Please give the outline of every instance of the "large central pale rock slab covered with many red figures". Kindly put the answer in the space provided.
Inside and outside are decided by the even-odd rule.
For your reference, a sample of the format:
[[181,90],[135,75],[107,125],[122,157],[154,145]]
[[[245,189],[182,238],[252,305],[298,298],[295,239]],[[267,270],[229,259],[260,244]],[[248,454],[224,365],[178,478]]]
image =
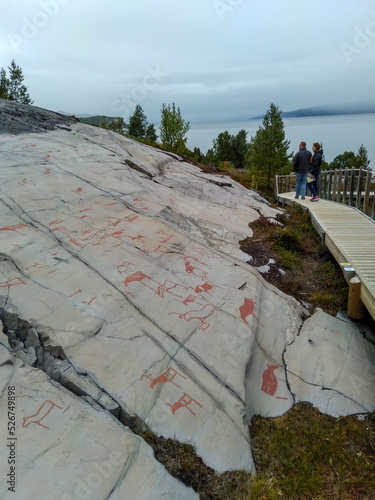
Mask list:
[[[218,472],[254,471],[252,415],[281,415],[303,391],[316,399],[319,378],[312,351],[298,364],[315,320],[303,325],[303,307],[239,249],[250,222],[279,211],[227,176],[87,125],[1,136],[0,146],[0,307],[20,356],[34,361],[35,347],[37,366],[97,418],[104,407],[135,431],[192,444]],[[363,387],[348,398],[371,408]],[[40,406],[53,401],[33,388]]]

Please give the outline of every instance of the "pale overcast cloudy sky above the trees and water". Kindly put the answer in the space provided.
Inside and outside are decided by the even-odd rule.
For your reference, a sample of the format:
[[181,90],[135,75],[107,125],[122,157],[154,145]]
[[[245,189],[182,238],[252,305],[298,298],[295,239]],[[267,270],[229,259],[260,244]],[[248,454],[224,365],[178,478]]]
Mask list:
[[34,105],[190,123],[375,102],[374,0],[0,0]]

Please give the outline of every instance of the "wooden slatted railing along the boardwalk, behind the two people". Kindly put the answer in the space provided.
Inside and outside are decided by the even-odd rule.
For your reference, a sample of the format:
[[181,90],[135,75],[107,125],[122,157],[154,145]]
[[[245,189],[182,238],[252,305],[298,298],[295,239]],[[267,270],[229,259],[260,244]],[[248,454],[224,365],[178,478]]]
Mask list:
[[[319,198],[356,207],[375,220],[374,191],[371,191],[371,170],[343,168],[323,170],[319,175]],[[295,174],[275,176],[275,198],[295,189]],[[308,192],[307,188],[307,192]]]

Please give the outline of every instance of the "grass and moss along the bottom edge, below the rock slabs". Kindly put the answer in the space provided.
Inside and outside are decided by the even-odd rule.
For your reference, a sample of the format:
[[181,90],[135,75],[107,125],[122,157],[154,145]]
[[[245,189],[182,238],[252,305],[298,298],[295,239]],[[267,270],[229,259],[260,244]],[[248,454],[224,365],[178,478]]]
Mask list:
[[[194,449],[146,431],[155,456],[202,500],[375,498],[375,414],[334,418],[308,403],[250,425],[257,474],[216,474]],[[220,439],[220,436],[218,436]]]

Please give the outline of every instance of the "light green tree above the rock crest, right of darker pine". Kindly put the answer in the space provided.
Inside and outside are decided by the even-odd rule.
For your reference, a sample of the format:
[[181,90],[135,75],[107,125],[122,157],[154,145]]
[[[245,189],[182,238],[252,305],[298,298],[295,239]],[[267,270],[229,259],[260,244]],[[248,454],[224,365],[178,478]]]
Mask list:
[[163,104],[161,109],[160,139],[163,146],[173,153],[183,153],[186,150],[186,140],[184,137],[190,128],[181,116],[181,110],[176,109],[175,103],[168,106]]

